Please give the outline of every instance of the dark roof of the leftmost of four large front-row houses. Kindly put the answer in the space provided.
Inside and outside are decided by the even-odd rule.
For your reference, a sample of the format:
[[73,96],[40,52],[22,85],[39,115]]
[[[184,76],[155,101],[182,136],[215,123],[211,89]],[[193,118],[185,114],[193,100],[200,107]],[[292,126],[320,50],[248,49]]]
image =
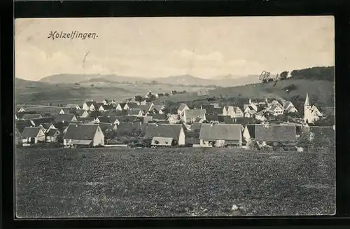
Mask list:
[[96,124],[70,124],[64,139],[92,140],[98,127]]

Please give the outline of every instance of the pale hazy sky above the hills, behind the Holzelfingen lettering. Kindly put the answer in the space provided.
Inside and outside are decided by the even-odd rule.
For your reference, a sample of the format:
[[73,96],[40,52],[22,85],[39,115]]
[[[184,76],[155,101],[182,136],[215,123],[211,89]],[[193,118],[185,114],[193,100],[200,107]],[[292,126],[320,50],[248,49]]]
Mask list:
[[[48,39],[55,31],[98,37]],[[278,73],[334,65],[334,34],[334,19],[324,16],[17,19],[15,76]]]

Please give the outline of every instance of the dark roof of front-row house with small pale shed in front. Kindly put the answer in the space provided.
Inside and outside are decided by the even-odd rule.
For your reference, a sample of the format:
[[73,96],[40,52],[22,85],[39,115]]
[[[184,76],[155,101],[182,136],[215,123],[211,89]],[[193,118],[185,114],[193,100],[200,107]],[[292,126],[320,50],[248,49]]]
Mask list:
[[181,124],[148,124],[145,138],[152,139],[153,137],[171,137],[175,140],[179,140],[181,129]]

